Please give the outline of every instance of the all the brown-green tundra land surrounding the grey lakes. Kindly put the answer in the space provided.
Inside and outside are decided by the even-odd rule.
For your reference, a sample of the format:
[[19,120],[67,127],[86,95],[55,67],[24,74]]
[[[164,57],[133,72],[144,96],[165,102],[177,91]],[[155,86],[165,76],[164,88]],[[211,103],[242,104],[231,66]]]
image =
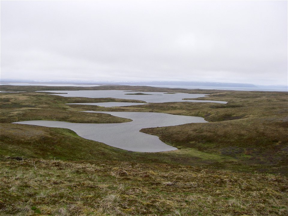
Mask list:
[[[199,100],[129,107],[68,105],[143,102],[76,98],[41,90],[128,90],[207,94]],[[2,215],[288,215],[287,92],[147,86],[11,86],[0,93]],[[194,99],[194,98],[193,98]],[[210,123],[143,128],[179,150],[129,152],[63,128],[26,120],[127,122],[103,113],[161,112]]]

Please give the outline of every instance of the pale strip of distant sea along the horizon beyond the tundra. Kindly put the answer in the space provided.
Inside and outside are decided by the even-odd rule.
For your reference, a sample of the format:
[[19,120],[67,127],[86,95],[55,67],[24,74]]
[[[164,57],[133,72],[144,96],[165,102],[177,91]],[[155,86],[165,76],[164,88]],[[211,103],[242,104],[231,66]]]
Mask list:
[[[0,85],[41,85],[41,86],[76,86],[76,87],[93,87],[100,85],[93,84],[77,84],[77,83],[23,83],[23,82],[2,82]],[[112,83],[107,83],[105,85],[113,85]],[[128,85],[128,84],[125,84]],[[137,86],[137,85],[131,85]],[[274,87],[274,86],[259,86],[258,88],[247,88],[247,87],[220,87],[220,86],[190,86],[190,85],[140,85],[140,86],[152,86],[159,88],[187,88],[187,89],[217,89],[217,90],[234,90],[234,91],[288,91],[286,87]]]

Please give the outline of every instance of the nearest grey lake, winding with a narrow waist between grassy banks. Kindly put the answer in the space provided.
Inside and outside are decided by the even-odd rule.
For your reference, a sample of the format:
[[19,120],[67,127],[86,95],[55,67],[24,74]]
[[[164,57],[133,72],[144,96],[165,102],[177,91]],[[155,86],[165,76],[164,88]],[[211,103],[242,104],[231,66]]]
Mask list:
[[84,111],[89,113],[108,113],[113,116],[132,119],[132,122],[110,124],[86,124],[60,121],[23,121],[17,124],[39,125],[46,127],[68,128],[75,131],[80,137],[95,140],[109,146],[134,152],[164,152],[177,148],[163,143],[157,136],[145,134],[142,128],[182,125],[187,123],[205,123],[202,117],[179,116],[166,113],[144,112],[102,112]]

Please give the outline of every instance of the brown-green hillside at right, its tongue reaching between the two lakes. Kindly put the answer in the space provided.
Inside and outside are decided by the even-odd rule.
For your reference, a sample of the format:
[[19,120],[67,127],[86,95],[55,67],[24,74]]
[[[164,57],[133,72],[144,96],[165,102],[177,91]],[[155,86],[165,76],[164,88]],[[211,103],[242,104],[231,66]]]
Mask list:
[[[200,152],[230,156],[240,164],[250,167],[248,170],[287,174],[287,92],[223,91],[199,99],[229,102],[173,102],[117,108],[83,105],[70,107],[79,110],[201,116],[210,123],[146,128],[141,132],[157,135],[163,142],[182,150],[196,149]],[[239,169],[245,170],[247,167]]]

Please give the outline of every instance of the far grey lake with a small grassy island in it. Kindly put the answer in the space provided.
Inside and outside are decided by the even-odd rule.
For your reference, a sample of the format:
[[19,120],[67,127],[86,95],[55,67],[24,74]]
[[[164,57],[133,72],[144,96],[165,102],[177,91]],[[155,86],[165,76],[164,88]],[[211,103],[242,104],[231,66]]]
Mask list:
[[[63,93],[63,94],[51,94],[51,95],[60,95],[63,97],[118,98],[118,99],[141,100],[146,101],[147,103],[165,103],[165,102],[213,102],[221,104],[227,103],[227,101],[182,100],[183,98],[205,97],[205,94],[188,94],[188,93],[167,94],[167,92],[137,91],[138,93],[151,94],[151,95],[126,95],[131,94],[131,92],[122,90],[79,90],[79,91],[44,91],[44,92]],[[136,92],[133,91],[133,93]]]

